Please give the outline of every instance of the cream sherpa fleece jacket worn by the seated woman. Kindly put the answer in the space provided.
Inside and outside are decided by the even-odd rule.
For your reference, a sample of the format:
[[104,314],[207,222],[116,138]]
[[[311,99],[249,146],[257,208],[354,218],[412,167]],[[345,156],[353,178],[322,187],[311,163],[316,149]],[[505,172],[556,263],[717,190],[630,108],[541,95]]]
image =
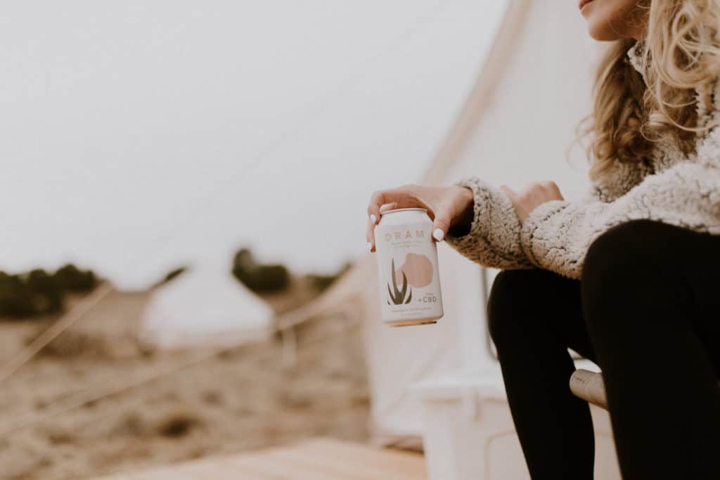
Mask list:
[[[641,48],[636,43],[628,56],[642,73]],[[719,97],[697,92],[698,124],[720,119]],[[672,142],[656,142],[647,161],[618,163],[607,180],[593,182],[581,199],[548,201],[522,224],[500,189],[474,176],[454,185],[472,189],[474,219],[469,230],[447,233],[452,248],[483,266],[538,267],[580,279],[593,240],[630,220],[652,219],[720,235],[720,127],[698,135],[692,155]]]

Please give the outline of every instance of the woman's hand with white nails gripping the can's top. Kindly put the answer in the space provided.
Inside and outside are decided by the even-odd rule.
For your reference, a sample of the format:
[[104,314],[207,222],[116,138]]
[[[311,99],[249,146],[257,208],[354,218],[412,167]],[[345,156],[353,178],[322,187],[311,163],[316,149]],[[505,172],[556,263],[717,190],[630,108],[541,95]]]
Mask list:
[[367,249],[375,250],[375,225],[380,212],[420,207],[433,219],[433,238],[441,242],[450,227],[469,225],[473,218],[472,190],[464,186],[403,185],[397,189],[379,190],[370,197],[367,207]]

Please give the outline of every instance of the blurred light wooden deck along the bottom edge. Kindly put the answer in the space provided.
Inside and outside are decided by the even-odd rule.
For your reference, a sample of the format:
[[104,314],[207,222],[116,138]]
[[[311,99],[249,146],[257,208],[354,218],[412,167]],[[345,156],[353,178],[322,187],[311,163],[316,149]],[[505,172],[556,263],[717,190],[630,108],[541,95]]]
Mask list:
[[341,440],[312,439],[283,448],[203,458],[97,480],[425,480],[417,453]]

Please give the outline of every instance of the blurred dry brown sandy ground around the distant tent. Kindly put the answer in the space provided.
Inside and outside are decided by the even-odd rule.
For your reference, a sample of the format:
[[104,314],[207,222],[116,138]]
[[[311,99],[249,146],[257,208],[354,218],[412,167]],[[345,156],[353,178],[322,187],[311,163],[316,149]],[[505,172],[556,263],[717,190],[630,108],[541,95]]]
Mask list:
[[[312,297],[305,284],[269,297],[279,311]],[[344,318],[297,328],[297,356],[279,338],[57,415],[74,394],[174,369],[208,350],[163,352],[135,338],[148,293],[115,292],[0,384],[0,478],[85,479],[313,435],[368,438],[361,332]],[[0,321],[0,361],[53,322]],[[17,427],[18,422],[26,423]]]

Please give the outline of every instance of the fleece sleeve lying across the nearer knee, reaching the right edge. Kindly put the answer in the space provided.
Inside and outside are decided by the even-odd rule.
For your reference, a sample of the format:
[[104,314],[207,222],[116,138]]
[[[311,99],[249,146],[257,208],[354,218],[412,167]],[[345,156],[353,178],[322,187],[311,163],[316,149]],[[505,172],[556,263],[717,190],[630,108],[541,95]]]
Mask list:
[[[714,137],[720,132],[714,132]],[[720,146],[716,138],[698,155],[649,175],[614,201],[549,201],[523,222],[521,245],[540,268],[580,279],[585,254],[609,228],[650,219],[720,234]]]

